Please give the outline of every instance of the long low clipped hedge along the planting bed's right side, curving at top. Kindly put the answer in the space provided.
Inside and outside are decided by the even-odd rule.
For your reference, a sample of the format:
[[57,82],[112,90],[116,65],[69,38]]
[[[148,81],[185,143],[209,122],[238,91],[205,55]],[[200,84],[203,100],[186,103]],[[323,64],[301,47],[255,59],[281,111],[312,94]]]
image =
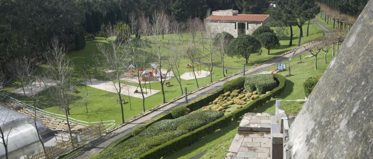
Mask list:
[[[159,158],[162,158],[163,156],[170,155],[173,152],[184,148],[185,146],[191,145],[192,143],[200,140],[201,138],[207,136],[208,134],[215,132],[215,130],[227,126],[229,123],[231,123],[232,120],[241,119],[241,117],[245,113],[248,113],[254,108],[261,106],[262,104],[269,101],[271,97],[278,95],[283,91],[283,89],[285,88],[286,78],[278,74],[274,74],[273,76],[275,77],[275,80],[278,83],[278,87],[273,89],[270,93],[265,94],[262,97],[257,98],[256,100],[251,101],[250,103],[246,104],[243,108],[233,111],[231,114],[223,116],[222,118],[217,119],[209,124],[206,124],[205,126],[202,126],[192,132],[186,133],[162,145],[159,145],[155,147],[154,149],[151,149],[143,153],[138,158],[139,159],[159,159]],[[229,83],[229,87],[234,88],[236,86],[233,86],[232,83]],[[243,82],[242,82],[241,88],[242,87],[243,87]],[[201,106],[204,106],[204,105],[200,105],[200,107]]]

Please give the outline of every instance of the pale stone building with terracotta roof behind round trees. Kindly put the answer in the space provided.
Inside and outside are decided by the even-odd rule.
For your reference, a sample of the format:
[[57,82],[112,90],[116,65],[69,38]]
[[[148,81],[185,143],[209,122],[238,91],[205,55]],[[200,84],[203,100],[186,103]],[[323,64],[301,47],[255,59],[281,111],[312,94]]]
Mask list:
[[238,10],[216,10],[205,19],[214,34],[228,32],[235,38],[240,34],[252,34],[262,25],[269,25],[268,14],[238,14]]

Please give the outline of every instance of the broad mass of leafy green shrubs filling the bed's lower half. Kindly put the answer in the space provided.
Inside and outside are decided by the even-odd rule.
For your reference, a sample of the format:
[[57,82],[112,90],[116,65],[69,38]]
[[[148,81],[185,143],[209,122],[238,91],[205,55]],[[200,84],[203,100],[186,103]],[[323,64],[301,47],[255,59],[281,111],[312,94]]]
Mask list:
[[158,121],[131,139],[113,147],[95,158],[126,158],[140,156],[158,145],[198,129],[224,116],[221,111],[199,111],[176,119]]

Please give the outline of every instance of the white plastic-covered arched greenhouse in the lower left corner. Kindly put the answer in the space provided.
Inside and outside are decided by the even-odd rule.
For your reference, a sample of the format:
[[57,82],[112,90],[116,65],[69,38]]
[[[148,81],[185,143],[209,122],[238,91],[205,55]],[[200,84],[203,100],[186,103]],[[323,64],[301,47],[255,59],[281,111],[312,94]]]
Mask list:
[[[36,123],[39,133],[47,130],[41,121]],[[34,119],[0,105],[0,127],[7,141],[9,158],[29,158],[43,151],[35,129]],[[0,158],[5,158],[5,147],[0,141]]]

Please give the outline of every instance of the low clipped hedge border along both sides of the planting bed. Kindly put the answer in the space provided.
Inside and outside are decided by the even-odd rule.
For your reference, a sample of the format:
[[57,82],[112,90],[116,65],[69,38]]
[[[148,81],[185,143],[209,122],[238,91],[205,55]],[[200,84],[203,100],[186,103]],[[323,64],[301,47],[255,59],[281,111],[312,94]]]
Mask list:
[[[182,136],[176,137],[175,139],[170,140],[166,143],[163,143],[162,145],[154,147],[153,149],[150,149],[147,152],[141,154],[138,158],[159,159],[162,156],[170,155],[173,152],[178,151],[184,148],[185,146],[191,145],[192,143],[200,140],[201,138],[215,132],[217,129],[227,126],[228,124],[231,123],[232,120],[241,119],[241,117],[245,113],[248,113],[254,108],[261,106],[262,104],[269,101],[271,97],[276,96],[283,91],[283,89],[285,88],[286,78],[278,74],[273,74],[273,76],[275,77],[278,87],[273,89],[270,93],[265,94],[262,97],[256,100],[253,100],[248,104],[245,104],[244,107],[240,108],[239,110],[233,111],[230,114],[221,117],[220,119],[217,119],[209,124],[206,124],[205,126],[202,126],[192,132],[183,134]],[[227,90],[233,91],[233,90],[241,89],[244,85],[244,81],[245,81],[245,77],[238,77],[234,80],[228,81],[223,85],[223,88],[220,88],[219,90],[216,90],[213,93],[210,93],[191,103],[184,104],[184,106],[189,108],[190,110],[197,110],[198,108],[202,106],[208,105],[211,101],[215,100],[217,97],[219,97],[220,94],[223,94]],[[145,123],[144,125],[146,127],[149,127],[152,124],[156,123],[157,121],[161,121],[165,119],[173,119],[171,111],[168,111],[158,116],[157,118]],[[185,127],[189,128],[191,126],[185,126]],[[101,153],[107,152],[107,150],[112,149],[113,147],[119,145],[122,142],[125,142],[128,139],[131,139],[132,137],[133,136],[131,133],[126,134],[125,136],[121,137],[120,139],[116,140],[115,142],[107,146],[106,149],[102,151]]]

